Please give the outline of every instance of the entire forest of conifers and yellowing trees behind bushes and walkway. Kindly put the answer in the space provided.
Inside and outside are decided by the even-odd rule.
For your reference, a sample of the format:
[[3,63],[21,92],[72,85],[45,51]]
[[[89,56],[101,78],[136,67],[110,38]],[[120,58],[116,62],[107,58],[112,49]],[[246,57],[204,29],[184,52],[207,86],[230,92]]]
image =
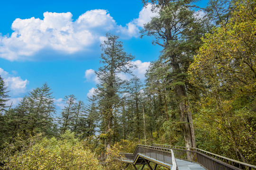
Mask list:
[[[109,33],[96,71],[100,83],[87,106],[66,96],[55,118],[45,84],[17,107],[6,108],[1,80],[1,149],[17,136],[59,137],[68,130],[88,140],[98,131],[90,141],[101,156],[118,142],[127,147],[158,143],[256,164],[256,1],[210,0],[200,12],[193,11],[198,8],[193,0],[151,3],[159,15],[141,36],[154,37],[163,50],[151,62],[145,83],[132,75],[134,56]],[[132,78],[123,80],[122,74]]]

